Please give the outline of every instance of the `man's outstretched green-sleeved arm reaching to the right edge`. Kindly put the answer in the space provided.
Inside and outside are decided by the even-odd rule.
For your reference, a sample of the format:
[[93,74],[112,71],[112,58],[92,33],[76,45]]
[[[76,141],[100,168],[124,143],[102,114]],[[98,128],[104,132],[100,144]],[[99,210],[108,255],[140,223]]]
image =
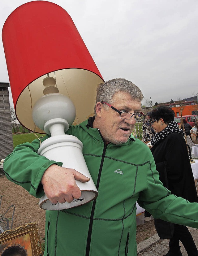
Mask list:
[[182,197],[176,197],[162,185],[152,155],[150,168],[145,175],[148,186],[140,192],[138,204],[156,219],[198,228],[198,203],[190,203]]

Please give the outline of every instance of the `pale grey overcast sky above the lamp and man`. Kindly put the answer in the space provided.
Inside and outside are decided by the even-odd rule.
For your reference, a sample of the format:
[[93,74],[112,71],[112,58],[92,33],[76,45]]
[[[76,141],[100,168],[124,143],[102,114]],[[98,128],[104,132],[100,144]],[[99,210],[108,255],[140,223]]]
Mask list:
[[[1,30],[11,12],[26,2],[1,2]],[[197,0],[50,2],[70,14],[104,80],[126,78],[153,104],[198,93]],[[9,82],[2,40],[0,65],[0,82]]]

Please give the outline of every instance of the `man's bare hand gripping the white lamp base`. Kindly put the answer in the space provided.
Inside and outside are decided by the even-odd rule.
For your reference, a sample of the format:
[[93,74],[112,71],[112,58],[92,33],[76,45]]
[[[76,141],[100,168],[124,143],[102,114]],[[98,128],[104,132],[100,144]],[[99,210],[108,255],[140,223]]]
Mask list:
[[74,169],[53,164],[44,172],[41,184],[45,195],[52,203],[71,203],[74,198],[78,199],[81,196],[75,180],[88,182],[90,179]]

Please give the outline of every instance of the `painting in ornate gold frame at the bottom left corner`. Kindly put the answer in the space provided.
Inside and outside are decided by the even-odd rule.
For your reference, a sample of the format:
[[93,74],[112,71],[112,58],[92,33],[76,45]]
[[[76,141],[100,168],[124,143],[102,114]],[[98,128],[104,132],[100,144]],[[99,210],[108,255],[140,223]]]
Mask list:
[[0,234],[0,255],[9,255],[14,251],[21,252],[19,255],[43,255],[36,222]]

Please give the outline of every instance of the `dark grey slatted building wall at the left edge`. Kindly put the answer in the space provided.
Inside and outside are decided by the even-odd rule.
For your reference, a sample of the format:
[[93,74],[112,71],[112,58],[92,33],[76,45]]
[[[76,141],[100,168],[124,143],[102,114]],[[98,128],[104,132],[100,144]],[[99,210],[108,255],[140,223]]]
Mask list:
[[0,160],[13,151],[9,83],[0,83]]

